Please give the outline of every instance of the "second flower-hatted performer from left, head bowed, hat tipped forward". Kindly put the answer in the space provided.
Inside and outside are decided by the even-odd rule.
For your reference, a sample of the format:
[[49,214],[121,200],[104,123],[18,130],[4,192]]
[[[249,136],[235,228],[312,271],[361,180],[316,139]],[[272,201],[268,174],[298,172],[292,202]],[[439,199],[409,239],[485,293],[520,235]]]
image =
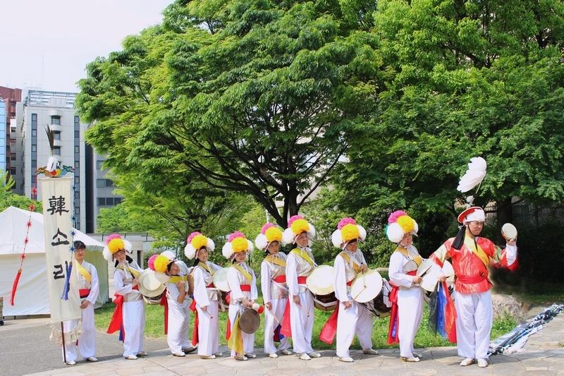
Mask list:
[[[185,272],[183,272],[184,270]],[[154,271],[166,274],[166,342],[173,356],[185,356],[185,352],[194,351],[188,341],[188,267],[183,261],[176,260],[176,255],[170,250],[161,253],[154,260]]]

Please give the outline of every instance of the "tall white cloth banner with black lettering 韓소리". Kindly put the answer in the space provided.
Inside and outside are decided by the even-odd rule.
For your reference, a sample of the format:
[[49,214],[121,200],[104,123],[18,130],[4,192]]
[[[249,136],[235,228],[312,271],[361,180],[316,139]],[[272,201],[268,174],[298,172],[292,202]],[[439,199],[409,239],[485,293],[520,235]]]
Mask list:
[[[45,231],[45,262],[47,262],[47,281],[51,322],[80,319],[80,295],[73,245],[72,177],[40,178],[43,202],[43,226]],[[72,265],[72,267],[71,267]],[[67,272],[70,273],[68,300],[63,299]]]

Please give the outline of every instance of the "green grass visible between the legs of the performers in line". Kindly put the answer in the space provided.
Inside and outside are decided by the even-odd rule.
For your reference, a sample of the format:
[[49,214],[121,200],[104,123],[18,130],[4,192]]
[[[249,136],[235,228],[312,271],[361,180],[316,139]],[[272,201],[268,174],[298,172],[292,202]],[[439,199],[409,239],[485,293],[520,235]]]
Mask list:
[[[321,327],[323,327],[326,320],[329,319],[331,313],[321,312],[320,310],[314,310],[315,320],[313,329],[313,339],[312,346],[316,349],[331,349],[335,348],[335,345],[328,345],[324,342],[319,341],[319,332],[321,332]],[[111,320],[111,315],[114,313],[114,303],[108,303],[95,311],[95,321],[96,327],[101,330],[106,330],[109,322]],[[145,324],[145,335],[152,338],[164,338],[164,310],[160,305],[146,305],[146,324]],[[192,335],[192,325],[193,325],[194,315],[190,314],[190,336]],[[440,335],[435,335],[432,333],[428,327],[427,322],[429,320],[429,309],[427,304],[424,305],[423,320],[417,336],[415,337],[415,347],[437,347],[437,346],[454,346],[450,344],[446,339],[443,339]],[[261,317],[261,326],[259,330],[255,333],[255,346],[262,347],[264,344],[264,317]],[[221,344],[226,345],[225,331],[226,331],[227,313],[219,313],[219,340]],[[397,348],[398,345],[389,346],[387,344],[388,339],[388,318],[381,320],[374,319],[374,327],[372,329],[372,342],[374,348]],[[495,339],[509,332],[516,323],[512,317],[506,316],[494,321],[494,326],[491,330],[491,339]],[[117,334],[115,334],[117,335]],[[358,340],[355,339],[351,348],[359,349],[360,344]]]

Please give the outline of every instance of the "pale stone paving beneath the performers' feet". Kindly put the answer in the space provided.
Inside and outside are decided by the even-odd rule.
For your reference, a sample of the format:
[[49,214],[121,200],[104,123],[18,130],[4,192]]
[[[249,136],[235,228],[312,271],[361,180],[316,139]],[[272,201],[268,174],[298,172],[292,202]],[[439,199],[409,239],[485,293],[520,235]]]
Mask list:
[[[78,363],[73,367],[35,375],[564,375],[564,314],[558,315],[537,334],[529,337],[525,351],[491,357],[488,368],[460,367],[454,347],[426,348],[420,363],[399,360],[398,349],[381,350],[379,356],[351,351],[355,363],[338,361],[334,351],[322,351],[321,358],[309,361],[296,356],[271,359],[258,357],[245,362],[228,357],[202,360],[195,354],[176,358],[168,349],[149,353],[146,358],[115,358],[98,363]],[[226,352],[226,348],[223,348]]]

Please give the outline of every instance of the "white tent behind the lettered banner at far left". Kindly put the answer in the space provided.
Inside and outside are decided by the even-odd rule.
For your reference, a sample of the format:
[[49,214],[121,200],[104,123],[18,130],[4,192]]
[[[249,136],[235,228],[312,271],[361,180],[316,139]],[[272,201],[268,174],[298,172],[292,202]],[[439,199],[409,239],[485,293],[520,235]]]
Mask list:
[[[13,280],[20,267],[20,255],[31,219],[22,275],[18,284],[14,305],[10,305]],[[102,256],[104,245],[75,230],[74,240],[86,245],[85,260],[94,265],[100,281],[97,306],[108,301],[108,263]],[[0,296],[4,297],[4,316],[48,315],[49,291],[47,289],[47,267],[45,265],[45,242],[43,214],[28,212],[17,207],[8,207],[0,213]]]

